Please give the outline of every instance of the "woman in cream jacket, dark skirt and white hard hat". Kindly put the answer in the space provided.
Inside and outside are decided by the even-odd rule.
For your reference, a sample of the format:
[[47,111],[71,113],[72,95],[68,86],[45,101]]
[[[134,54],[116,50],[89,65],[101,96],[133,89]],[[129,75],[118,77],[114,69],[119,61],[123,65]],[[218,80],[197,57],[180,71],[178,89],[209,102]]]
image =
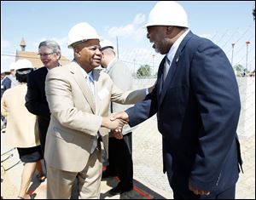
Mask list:
[[43,181],[40,160],[43,158],[38,136],[36,116],[27,111],[25,106],[26,76],[33,71],[29,60],[18,60],[16,79],[20,83],[14,88],[7,89],[1,100],[1,111],[7,118],[6,137],[9,145],[17,148],[21,162],[25,163],[21,174],[20,192],[18,198],[33,198],[27,194],[35,169],[38,169],[38,180]]

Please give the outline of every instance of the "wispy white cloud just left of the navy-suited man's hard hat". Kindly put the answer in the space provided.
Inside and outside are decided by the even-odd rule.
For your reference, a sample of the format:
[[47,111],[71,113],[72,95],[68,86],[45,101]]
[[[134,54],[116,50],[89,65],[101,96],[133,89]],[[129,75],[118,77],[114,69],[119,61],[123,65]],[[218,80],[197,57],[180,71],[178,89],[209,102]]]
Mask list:
[[126,37],[139,42],[146,35],[146,30],[142,28],[144,21],[145,14],[137,14],[131,24],[108,28],[108,34],[111,37]]

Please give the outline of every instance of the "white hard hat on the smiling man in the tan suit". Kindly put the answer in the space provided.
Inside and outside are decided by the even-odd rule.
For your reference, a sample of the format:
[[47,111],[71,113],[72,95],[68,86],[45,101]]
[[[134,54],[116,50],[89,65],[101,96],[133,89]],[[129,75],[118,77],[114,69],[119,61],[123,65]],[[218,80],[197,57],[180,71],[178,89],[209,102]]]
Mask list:
[[72,48],[73,43],[84,42],[89,39],[99,39],[98,33],[88,23],[79,23],[68,32],[68,48]]

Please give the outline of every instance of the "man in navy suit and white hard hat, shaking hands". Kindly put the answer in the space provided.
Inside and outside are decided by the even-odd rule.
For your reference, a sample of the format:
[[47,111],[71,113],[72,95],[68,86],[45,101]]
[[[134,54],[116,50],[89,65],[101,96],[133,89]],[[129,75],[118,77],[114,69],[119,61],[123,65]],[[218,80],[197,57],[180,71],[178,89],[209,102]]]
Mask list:
[[174,198],[235,198],[241,103],[228,58],[216,44],[189,31],[178,3],[156,3],[146,26],[155,51],[166,54],[156,86],[115,118],[135,126],[157,113],[163,167]]

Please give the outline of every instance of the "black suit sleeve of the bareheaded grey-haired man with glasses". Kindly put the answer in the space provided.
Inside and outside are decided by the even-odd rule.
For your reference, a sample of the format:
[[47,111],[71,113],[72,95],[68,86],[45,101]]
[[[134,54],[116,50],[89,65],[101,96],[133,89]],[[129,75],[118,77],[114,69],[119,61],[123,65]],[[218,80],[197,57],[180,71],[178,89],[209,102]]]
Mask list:
[[48,103],[46,100],[42,100],[42,94],[40,94],[40,89],[37,86],[38,80],[35,78],[30,75],[27,76],[26,109],[34,115],[49,117]]

